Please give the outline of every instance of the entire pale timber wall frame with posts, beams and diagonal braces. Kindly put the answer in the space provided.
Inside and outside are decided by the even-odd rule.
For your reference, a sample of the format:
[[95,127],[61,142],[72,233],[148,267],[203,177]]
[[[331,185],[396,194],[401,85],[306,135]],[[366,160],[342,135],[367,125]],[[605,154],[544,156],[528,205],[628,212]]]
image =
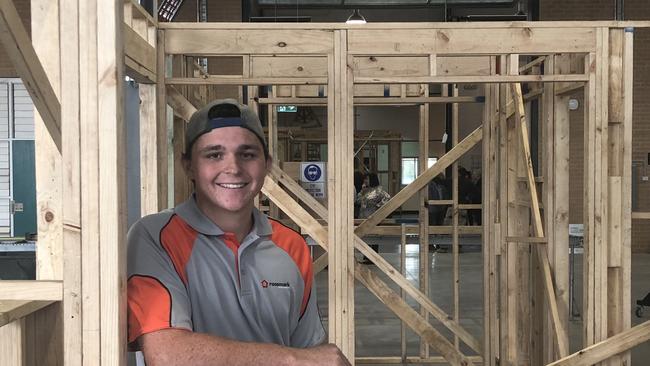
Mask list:
[[[167,183],[164,143],[167,104],[185,119],[197,107],[173,86],[326,88],[328,206],[337,209],[328,211],[277,166],[267,177],[263,191],[328,250],[324,258],[329,262],[330,341],[351,359],[355,354],[355,279],[441,356],[426,358],[423,347],[424,361],[514,365],[546,364],[566,357],[554,364],[589,365],[650,338],[648,323],[630,329],[629,315],[632,41],[633,27],[649,24],[163,25],[128,1],[32,0],[32,22],[38,27],[33,27],[30,43],[16,21],[18,17],[12,18],[15,8],[11,1],[0,0],[0,10],[2,42],[11,50],[16,69],[42,116],[37,118],[38,280],[0,282],[0,350],[6,351],[0,353],[3,365],[126,363],[125,73],[141,83],[143,215],[167,207],[168,190],[172,189]],[[561,54],[581,57],[582,71],[563,68],[566,65]],[[185,70],[181,72],[185,75],[167,77],[163,70],[170,55],[242,56],[244,72],[241,76],[194,77]],[[521,68],[520,55],[543,56],[533,62],[543,63],[544,73],[520,75],[520,69],[527,70]],[[390,75],[379,72],[381,69],[361,75],[355,58],[369,56],[420,57],[428,68],[424,75]],[[489,74],[465,75],[462,70],[453,76],[437,73],[437,64],[458,56],[487,57]],[[317,65],[288,68],[279,74],[273,73],[279,69],[271,67],[267,69],[271,73],[257,73],[256,60],[272,63],[285,57],[310,58]],[[305,70],[309,70],[308,75]],[[483,124],[467,136],[455,136],[454,147],[437,164],[423,170],[412,184],[355,227],[353,163],[349,158],[353,154],[355,86],[436,83],[485,84]],[[543,178],[532,172],[522,83],[542,85],[538,94],[544,105]],[[585,346],[589,347],[569,356],[568,279],[562,266],[568,252],[564,205],[568,201],[568,153],[563,140],[568,136],[568,119],[562,98],[563,92],[576,88],[584,90],[588,101],[583,314]],[[248,90],[249,103],[255,104],[254,90]],[[426,98],[418,102],[422,115],[426,115],[429,102]],[[426,128],[422,123],[421,131]],[[182,130],[180,125],[176,137]],[[270,134],[273,151],[276,142],[273,131]],[[363,236],[373,232],[394,209],[479,142],[483,149],[483,199],[487,203],[482,229],[482,340],[462,328],[457,311],[444,313],[363,241]],[[566,189],[562,188],[565,185]],[[315,217],[298,200],[308,205]],[[421,204],[424,200],[426,196],[422,195]],[[457,205],[457,199],[454,202]],[[454,216],[457,220],[457,214]],[[322,220],[329,224],[324,226]],[[426,237],[429,227],[422,226],[419,233]],[[402,234],[406,230],[400,228]],[[457,237],[458,225],[452,230]],[[537,248],[532,262],[526,257],[528,251],[519,249],[529,245]],[[412,309],[367,267],[355,266],[354,249],[414,298],[420,311]],[[457,241],[454,255],[457,259]],[[317,266],[322,267],[324,260]],[[527,263],[534,265],[524,266]],[[522,282],[513,281],[518,273],[532,275],[539,290],[527,296]],[[533,296],[534,307],[530,302]],[[515,309],[528,309],[530,314]],[[443,337],[425,320],[427,316],[451,330],[454,339]],[[535,332],[531,331],[533,324]],[[522,334],[524,337],[518,336]],[[459,344],[466,345],[462,349],[470,353],[462,353]],[[629,364],[629,354],[616,357],[611,362]],[[401,359],[383,361],[398,363]]]

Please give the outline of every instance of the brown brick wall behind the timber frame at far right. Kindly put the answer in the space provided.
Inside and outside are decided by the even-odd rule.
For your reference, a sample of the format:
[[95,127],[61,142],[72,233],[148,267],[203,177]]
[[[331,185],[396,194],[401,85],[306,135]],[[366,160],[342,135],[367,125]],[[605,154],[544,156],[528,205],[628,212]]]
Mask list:
[[[540,1],[541,20],[612,20],[613,0],[543,0]],[[625,20],[649,20],[647,0],[626,0]],[[634,127],[632,160],[636,172],[636,210],[650,211],[650,182],[642,176],[650,175],[650,29],[636,29],[634,34]],[[582,108],[582,98],[580,100]],[[571,112],[571,186],[570,221],[582,221],[582,110]],[[650,225],[647,220],[632,221],[632,251],[650,252]]]

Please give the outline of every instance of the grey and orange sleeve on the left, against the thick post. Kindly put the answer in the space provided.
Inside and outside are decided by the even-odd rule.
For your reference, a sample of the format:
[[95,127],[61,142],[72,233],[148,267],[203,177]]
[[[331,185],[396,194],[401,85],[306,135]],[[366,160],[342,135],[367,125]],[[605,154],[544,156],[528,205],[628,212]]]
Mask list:
[[161,329],[192,330],[191,305],[185,284],[165,251],[160,233],[169,215],[153,215],[135,223],[128,234],[128,342]]

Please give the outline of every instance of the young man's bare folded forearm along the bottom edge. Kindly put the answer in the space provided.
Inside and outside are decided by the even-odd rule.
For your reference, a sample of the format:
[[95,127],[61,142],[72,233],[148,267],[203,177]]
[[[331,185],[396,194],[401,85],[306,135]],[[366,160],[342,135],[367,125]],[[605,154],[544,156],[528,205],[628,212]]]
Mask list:
[[305,349],[290,348],[268,343],[233,341],[180,329],[144,334],[139,341],[147,366],[350,365],[341,351],[331,344]]

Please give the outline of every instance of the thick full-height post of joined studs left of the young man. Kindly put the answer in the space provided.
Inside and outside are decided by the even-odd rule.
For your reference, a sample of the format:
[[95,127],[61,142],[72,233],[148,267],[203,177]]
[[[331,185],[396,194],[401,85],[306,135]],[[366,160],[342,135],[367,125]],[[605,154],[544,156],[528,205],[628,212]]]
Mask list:
[[126,362],[122,10],[60,11],[66,365]]

